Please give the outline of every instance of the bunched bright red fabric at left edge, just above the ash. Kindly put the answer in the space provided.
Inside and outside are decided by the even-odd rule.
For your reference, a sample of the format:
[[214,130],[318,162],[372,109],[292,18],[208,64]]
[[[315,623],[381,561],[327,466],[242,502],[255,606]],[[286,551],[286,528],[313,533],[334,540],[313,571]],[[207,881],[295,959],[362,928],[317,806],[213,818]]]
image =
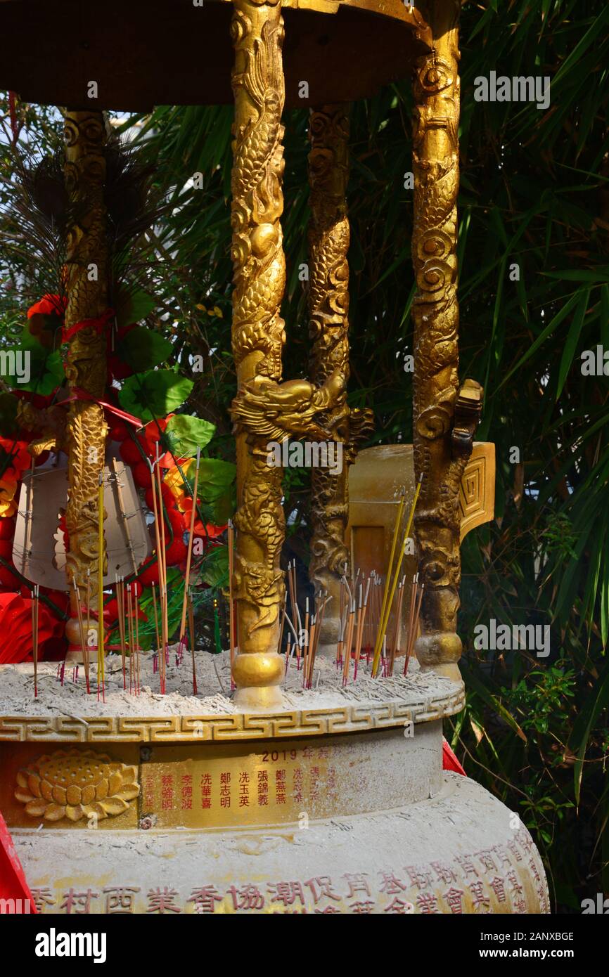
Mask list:
[[[33,635],[31,633],[31,597],[21,594],[0,594],[0,664],[16,664],[31,660]],[[38,653],[44,657],[44,646],[51,639],[64,633],[64,621],[51,614],[40,601],[38,605]]]

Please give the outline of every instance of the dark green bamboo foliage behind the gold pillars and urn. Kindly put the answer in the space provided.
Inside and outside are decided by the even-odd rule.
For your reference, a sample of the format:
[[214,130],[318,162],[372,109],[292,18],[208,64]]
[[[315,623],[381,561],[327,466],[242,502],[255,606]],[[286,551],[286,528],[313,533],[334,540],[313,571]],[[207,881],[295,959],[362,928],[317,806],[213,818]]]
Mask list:
[[[580,368],[583,350],[609,350],[609,6],[466,2],[460,48],[460,373],[484,384],[478,437],[495,442],[498,473],[496,519],[462,547],[467,704],[446,735],[532,830],[556,908],[579,912],[609,890],[609,386]],[[476,103],[474,79],[491,70],[548,75],[549,108]],[[182,366],[202,357],[188,409],[217,425],[213,446],[229,460],[231,117],[165,106],[136,120],[173,204],[152,239],[157,325]],[[411,117],[408,82],[352,115],[350,400],[374,410],[371,443],[412,439]],[[307,113],[284,122],[284,375],[296,376],[308,355]],[[198,172],[203,190],[189,183]],[[8,334],[15,309],[2,301]],[[288,474],[289,545],[305,561],[306,488]],[[476,651],[474,626],[492,617],[549,624],[549,657]]]

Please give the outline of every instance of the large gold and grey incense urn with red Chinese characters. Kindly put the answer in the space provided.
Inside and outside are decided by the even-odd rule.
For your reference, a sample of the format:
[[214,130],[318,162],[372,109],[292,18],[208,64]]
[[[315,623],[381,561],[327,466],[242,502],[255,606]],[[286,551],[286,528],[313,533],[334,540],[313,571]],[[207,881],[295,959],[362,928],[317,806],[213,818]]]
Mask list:
[[[5,716],[0,808],[42,913],[546,913],[528,830],[442,769],[420,701]],[[326,700],[325,700],[326,703]]]

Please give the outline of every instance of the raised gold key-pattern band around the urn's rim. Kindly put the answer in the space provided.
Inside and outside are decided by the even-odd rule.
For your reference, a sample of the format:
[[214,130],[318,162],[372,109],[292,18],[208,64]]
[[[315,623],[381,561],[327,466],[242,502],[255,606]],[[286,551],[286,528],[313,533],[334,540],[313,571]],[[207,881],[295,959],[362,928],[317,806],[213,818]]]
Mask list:
[[211,716],[0,716],[4,743],[227,743],[358,733],[424,723],[462,709],[462,684],[449,696],[407,704],[400,701],[274,713]]

